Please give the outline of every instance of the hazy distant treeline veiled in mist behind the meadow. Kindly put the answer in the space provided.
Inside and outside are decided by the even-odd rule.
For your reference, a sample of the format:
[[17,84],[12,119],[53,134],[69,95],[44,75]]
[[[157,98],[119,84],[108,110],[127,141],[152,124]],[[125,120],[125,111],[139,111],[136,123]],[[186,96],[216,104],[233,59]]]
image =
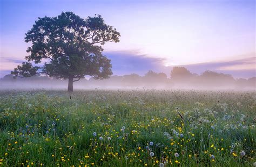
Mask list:
[[[55,79],[48,76],[33,76],[30,78],[13,78],[12,75],[6,75],[1,80],[3,84],[31,83],[32,88],[61,88],[68,81],[64,79]],[[11,82],[11,83],[10,83]],[[111,76],[108,79],[96,80],[81,79],[75,83],[79,89],[89,88],[156,88],[156,89],[255,89],[256,77],[244,79],[234,79],[232,75],[217,73],[213,71],[205,71],[203,74],[192,74],[184,67],[174,67],[170,76],[165,73],[148,71],[144,76],[138,74],[130,74],[124,76]],[[25,84],[23,84],[25,86]],[[3,88],[2,88],[3,89]]]

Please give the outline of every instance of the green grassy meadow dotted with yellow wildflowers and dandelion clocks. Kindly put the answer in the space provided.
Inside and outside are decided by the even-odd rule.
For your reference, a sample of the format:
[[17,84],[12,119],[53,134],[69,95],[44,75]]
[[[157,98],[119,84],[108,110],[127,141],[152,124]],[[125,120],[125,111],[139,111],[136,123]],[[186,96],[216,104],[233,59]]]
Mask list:
[[2,166],[253,166],[256,162],[255,92],[0,93]]

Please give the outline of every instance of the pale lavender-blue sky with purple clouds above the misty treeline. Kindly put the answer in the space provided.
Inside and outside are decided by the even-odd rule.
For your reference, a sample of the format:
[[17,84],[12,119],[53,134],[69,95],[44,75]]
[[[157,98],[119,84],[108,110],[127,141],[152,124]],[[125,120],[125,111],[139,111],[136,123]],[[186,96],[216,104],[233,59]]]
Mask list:
[[153,70],[170,76],[174,66],[182,66],[197,74],[256,76],[254,0],[1,0],[0,77],[29,54],[24,37],[35,20],[62,11],[82,18],[100,14],[120,32],[119,43],[103,46],[113,75]]

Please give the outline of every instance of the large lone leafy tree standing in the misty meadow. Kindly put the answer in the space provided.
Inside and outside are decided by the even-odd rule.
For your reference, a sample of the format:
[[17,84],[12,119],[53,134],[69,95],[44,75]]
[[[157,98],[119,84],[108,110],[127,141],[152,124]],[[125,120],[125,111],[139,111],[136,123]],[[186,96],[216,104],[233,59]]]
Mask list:
[[[73,82],[85,75],[95,79],[109,78],[112,65],[102,55],[106,42],[119,42],[120,33],[106,25],[100,15],[80,18],[72,12],[62,12],[57,17],[38,18],[26,34],[25,42],[31,42],[23,62],[11,71],[15,77],[31,77],[47,74],[50,77],[69,79],[68,91]],[[32,66],[32,63],[43,66]]]

